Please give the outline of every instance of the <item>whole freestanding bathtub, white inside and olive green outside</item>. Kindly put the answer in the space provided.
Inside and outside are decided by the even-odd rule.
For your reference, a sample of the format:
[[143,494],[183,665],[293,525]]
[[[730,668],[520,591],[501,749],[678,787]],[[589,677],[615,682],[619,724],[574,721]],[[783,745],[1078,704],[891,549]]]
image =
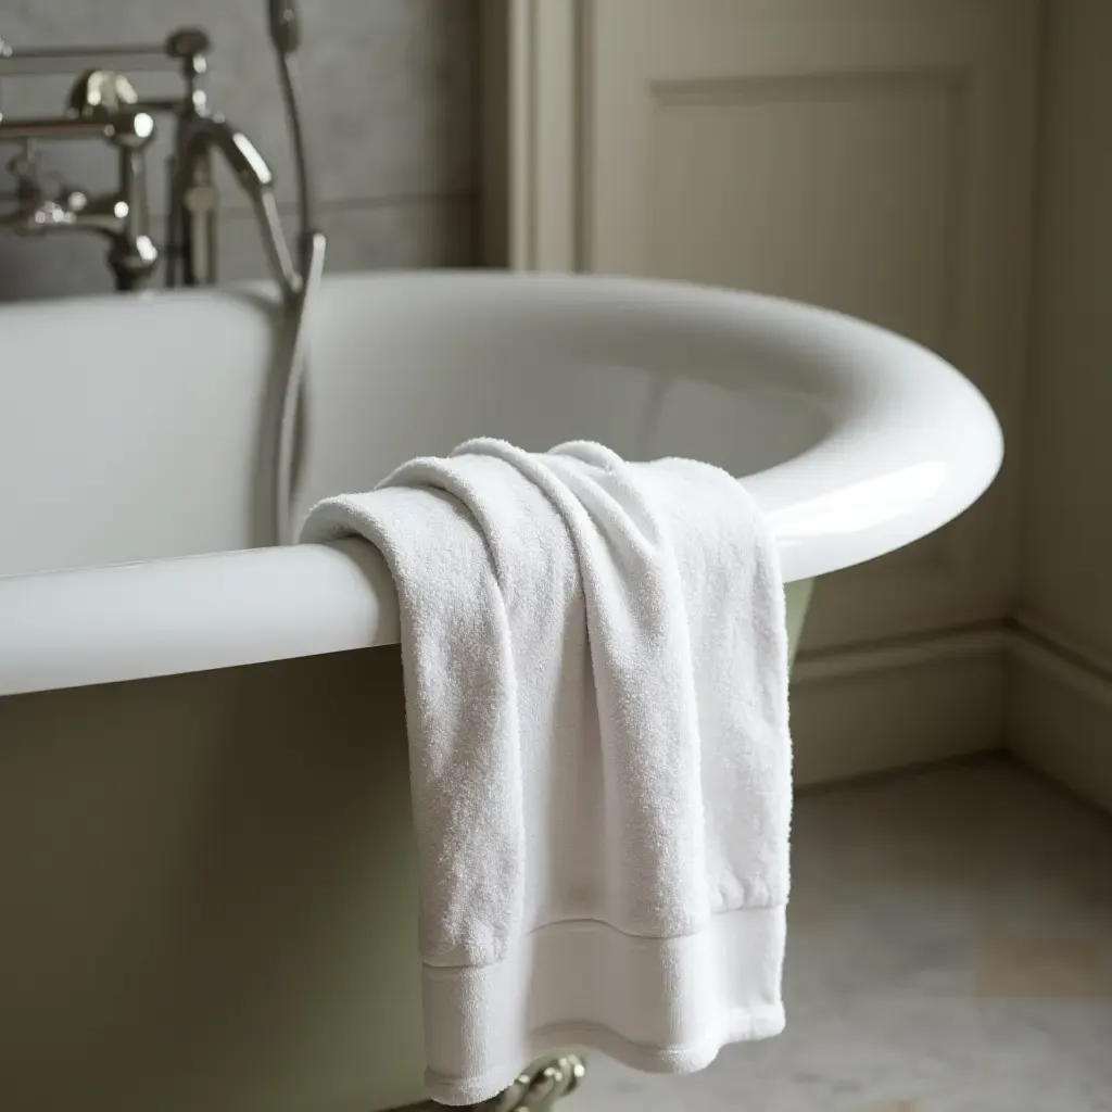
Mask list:
[[[6,1108],[423,1095],[396,603],[359,543],[261,547],[276,334],[259,290],[0,309]],[[1001,458],[930,353],[749,295],[349,276],[312,336],[300,510],[475,435],[696,456],[768,514],[793,641]]]

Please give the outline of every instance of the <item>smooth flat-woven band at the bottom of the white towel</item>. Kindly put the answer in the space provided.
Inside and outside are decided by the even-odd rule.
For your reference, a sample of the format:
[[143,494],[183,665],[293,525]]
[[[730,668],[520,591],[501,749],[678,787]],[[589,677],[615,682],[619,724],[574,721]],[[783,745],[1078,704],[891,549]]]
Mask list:
[[785,905],[742,909],[671,939],[554,923],[493,965],[426,965],[429,1094],[478,1103],[562,1048],[691,1073],[728,1043],[778,1034],[785,913]]

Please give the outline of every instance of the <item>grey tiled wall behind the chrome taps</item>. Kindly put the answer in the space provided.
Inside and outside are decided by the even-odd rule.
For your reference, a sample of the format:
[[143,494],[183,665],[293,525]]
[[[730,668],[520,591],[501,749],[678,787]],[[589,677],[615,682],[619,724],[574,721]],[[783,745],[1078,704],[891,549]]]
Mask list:
[[[468,266],[475,262],[476,0],[302,0],[299,63],[308,137],[329,235],[332,269]],[[270,161],[284,209],[292,214],[292,175],[266,0],[7,0],[0,37],[20,47],[161,42],[197,24],[211,36],[214,107],[246,131]],[[140,93],[180,88],[172,75],[132,75]],[[69,79],[10,78],[0,88],[9,116],[56,115]],[[169,126],[151,152],[151,202],[159,235],[162,159]],[[0,145],[0,212],[11,208]],[[86,188],[115,181],[103,142],[50,145],[43,165]],[[221,277],[265,272],[245,198],[220,186]],[[106,290],[106,245],[59,232],[20,239],[0,230],[0,300]]]

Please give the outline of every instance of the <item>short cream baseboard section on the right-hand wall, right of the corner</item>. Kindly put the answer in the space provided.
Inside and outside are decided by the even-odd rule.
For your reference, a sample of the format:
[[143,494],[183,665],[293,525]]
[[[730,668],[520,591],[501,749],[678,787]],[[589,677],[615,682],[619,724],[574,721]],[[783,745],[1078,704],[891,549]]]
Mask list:
[[1011,749],[1112,811],[1112,672],[1030,619],[1009,629]]

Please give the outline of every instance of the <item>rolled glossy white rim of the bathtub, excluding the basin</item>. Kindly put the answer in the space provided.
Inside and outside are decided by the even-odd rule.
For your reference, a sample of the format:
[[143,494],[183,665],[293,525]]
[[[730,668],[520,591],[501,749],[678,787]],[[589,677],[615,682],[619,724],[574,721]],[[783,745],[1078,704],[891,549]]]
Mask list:
[[[766,330],[770,342],[790,338],[793,358],[810,361],[828,387],[837,420],[812,448],[742,479],[776,536],[785,582],[860,564],[932,533],[981,496],[1003,460],[995,415],[955,368],[912,340],[828,309],[606,276],[383,271],[328,279],[340,290],[368,282],[411,284],[415,292],[460,282],[495,290],[526,284],[538,295],[582,295],[590,284],[593,297],[615,305],[679,307],[723,328]],[[247,289],[257,298],[265,287]],[[242,289],[157,295],[242,296]],[[56,312],[92,300],[106,299],[73,299]],[[378,553],[361,542],[0,577],[0,695],[397,639],[393,582]]]

